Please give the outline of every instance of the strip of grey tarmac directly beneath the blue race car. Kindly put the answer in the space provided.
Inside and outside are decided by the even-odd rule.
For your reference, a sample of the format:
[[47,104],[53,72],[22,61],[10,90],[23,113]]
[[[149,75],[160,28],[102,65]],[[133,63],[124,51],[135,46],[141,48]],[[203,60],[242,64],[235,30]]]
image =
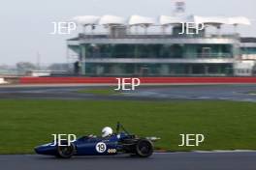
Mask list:
[[50,156],[0,156],[4,170],[255,170],[255,152],[167,153],[149,158],[130,156],[82,156],[56,159]]

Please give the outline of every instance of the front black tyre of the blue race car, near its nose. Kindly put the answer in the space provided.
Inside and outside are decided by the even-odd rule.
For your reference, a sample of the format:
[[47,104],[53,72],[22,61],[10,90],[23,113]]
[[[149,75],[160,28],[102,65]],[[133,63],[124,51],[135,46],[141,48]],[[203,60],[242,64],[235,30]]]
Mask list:
[[[61,145],[67,145],[67,142],[63,142]],[[72,143],[70,146],[58,146],[57,157],[60,158],[71,158],[75,154],[75,146]]]

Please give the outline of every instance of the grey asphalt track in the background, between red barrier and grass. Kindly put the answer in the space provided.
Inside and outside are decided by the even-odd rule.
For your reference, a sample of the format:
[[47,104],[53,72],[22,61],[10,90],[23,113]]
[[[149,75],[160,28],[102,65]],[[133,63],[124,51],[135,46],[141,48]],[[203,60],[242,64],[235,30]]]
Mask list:
[[98,86],[0,86],[0,99],[122,99],[122,100],[172,100],[172,99],[222,99],[256,102],[256,85],[173,85],[141,86],[121,95],[100,96],[80,94],[79,90],[115,87]]

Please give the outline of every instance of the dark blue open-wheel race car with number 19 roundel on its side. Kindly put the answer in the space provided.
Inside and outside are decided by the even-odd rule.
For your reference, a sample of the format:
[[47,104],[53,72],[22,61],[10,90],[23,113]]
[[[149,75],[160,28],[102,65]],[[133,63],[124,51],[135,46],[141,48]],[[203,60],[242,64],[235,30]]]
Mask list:
[[[120,128],[122,129],[121,132],[119,132]],[[60,142],[53,141],[52,143],[36,147],[35,152],[39,155],[60,158],[70,158],[72,156],[113,156],[117,154],[148,157],[153,153],[153,142],[158,139],[157,137],[137,137],[130,134],[122,125],[117,123],[116,133],[112,133],[109,136],[83,136],[70,143],[70,145],[67,145],[68,141],[65,140]]]

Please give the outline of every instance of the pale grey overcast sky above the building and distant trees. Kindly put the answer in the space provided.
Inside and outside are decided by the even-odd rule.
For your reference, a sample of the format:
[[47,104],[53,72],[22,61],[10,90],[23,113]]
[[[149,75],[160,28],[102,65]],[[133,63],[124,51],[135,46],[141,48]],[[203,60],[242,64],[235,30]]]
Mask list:
[[[204,16],[238,16],[252,19],[240,26],[242,36],[256,37],[255,0],[186,0],[186,13]],[[0,65],[19,61],[44,64],[66,62],[66,40],[77,36],[52,36],[52,21],[75,15],[140,14],[157,17],[173,14],[172,0],[3,0],[0,6]]]

